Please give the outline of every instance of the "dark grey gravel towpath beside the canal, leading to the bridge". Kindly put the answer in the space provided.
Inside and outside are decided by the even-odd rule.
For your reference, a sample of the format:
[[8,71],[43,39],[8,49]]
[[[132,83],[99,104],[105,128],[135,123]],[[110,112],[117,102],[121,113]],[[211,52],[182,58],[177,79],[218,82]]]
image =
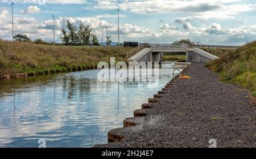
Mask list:
[[248,92],[222,83],[204,63],[193,63],[183,75],[191,79],[172,82],[146,105],[152,109],[135,110],[135,118],[125,119],[128,127],[109,132],[118,142],[94,147],[209,147],[210,139],[217,147],[256,147],[256,107]]

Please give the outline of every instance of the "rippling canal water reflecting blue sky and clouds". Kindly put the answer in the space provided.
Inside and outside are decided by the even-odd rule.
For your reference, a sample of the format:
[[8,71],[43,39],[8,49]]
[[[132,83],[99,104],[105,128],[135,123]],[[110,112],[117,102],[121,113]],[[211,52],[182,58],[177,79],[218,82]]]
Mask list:
[[0,80],[0,147],[92,147],[107,143],[109,130],[123,126],[148,98],[172,79],[159,71],[159,84],[99,82],[100,70]]

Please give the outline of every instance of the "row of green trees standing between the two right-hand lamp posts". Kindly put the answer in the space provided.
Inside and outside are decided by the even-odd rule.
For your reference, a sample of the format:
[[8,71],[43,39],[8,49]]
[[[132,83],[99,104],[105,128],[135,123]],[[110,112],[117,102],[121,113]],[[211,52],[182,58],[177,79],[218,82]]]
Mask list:
[[[112,43],[111,36],[109,35],[108,28],[105,28],[106,31],[106,45]],[[85,25],[80,22],[78,26],[67,21],[66,28],[61,29],[62,36],[60,36],[63,45],[72,45],[72,46],[89,46],[89,45],[100,45],[98,41],[98,36],[93,29],[90,28],[90,25]],[[103,39],[102,35],[102,39]]]

